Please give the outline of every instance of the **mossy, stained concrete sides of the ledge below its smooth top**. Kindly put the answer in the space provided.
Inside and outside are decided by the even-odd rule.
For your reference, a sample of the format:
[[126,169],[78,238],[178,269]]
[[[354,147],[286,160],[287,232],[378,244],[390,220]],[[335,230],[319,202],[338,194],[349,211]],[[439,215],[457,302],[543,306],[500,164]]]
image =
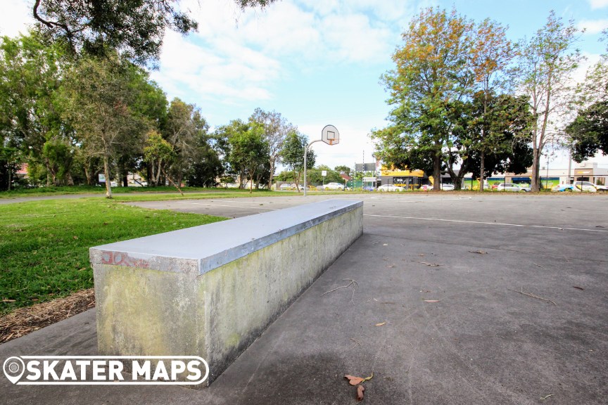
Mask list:
[[99,354],[201,356],[210,383],[362,234],[362,210],[203,274],[94,263]]

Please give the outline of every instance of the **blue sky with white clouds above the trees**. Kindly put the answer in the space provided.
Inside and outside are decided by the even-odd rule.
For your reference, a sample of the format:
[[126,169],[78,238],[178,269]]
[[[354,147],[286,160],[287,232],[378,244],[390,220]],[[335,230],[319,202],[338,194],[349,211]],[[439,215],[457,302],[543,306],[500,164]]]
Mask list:
[[[32,1],[0,1],[0,34],[25,32]],[[496,20],[509,27],[513,41],[531,37],[554,10],[586,30],[577,44],[587,57],[576,73],[580,79],[605,51],[598,39],[608,28],[608,0],[278,0],[246,11],[232,0],[179,4],[199,29],[165,36],[151,78],[167,98],[196,104],[211,127],[247,120],[258,107],[281,113],[310,141],[332,124],[340,143],[312,146],[317,164],[330,167],[373,161],[369,133],[386,127],[390,110],[381,75],[394,67],[400,34],[421,8],[454,7],[476,22]],[[608,167],[606,156],[591,161]],[[556,153],[549,165],[566,168],[568,159]]]

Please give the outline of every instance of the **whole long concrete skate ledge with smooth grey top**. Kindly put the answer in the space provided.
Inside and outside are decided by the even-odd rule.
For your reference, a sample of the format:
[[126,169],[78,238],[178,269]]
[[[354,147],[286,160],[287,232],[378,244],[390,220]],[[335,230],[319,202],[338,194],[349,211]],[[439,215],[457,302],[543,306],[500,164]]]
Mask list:
[[363,231],[328,200],[91,248],[99,354],[194,355],[217,378]]

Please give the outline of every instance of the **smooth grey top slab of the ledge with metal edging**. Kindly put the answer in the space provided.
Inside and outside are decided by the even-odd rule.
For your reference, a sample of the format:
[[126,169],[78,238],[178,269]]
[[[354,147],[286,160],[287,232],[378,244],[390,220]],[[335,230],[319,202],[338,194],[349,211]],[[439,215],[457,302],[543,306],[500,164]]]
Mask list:
[[362,205],[324,200],[95,246],[91,264],[203,274]]

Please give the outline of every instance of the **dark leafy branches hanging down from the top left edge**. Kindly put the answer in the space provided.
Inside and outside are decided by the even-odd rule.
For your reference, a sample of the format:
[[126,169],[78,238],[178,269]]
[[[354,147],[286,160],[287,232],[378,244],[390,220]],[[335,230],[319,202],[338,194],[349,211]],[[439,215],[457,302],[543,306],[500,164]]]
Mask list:
[[[235,0],[242,8],[274,0]],[[165,30],[196,31],[198,23],[173,0],[34,0],[32,15],[42,32],[73,53],[105,56],[120,49],[134,63],[158,60]]]

